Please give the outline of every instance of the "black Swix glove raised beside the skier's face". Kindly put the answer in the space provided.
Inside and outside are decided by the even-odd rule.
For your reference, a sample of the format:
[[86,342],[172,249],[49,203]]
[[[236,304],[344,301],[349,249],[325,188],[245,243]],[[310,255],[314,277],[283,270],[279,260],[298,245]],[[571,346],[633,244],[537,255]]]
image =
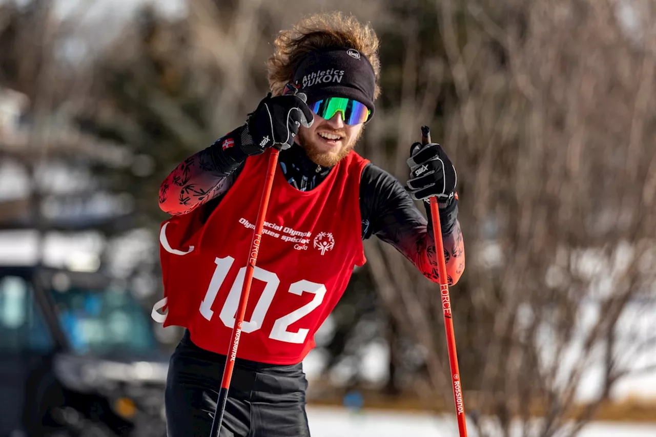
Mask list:
[[287,149],[294,143],[298,127],[310,127],[314,121],[304,93],[272,97],[267,94],[247,120],[252,141],[242,136],[241,150],[247,155],[258,155],[267,147]]

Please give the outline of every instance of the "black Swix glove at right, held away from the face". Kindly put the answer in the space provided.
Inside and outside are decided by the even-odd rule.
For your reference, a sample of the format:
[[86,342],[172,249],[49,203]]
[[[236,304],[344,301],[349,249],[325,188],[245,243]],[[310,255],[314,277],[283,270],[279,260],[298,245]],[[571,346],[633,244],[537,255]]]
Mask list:
[[458,177],[440,144],[433,142],[423,145],[415,142],[410,147],[407,163],[410,167],[410,178],[406,190],[413,199],[428,202],[428,198],[436,196],[440,209],[451,206]]

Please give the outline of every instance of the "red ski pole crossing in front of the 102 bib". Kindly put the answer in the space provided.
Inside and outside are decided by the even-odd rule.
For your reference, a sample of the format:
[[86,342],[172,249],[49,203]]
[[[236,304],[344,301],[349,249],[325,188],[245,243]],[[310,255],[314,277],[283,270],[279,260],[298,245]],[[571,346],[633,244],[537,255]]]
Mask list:
[[216,411],[214,413],[214,420],[212,421],[210,437],[218,437],[218,434],[221,430],[221,423],[223,422],[223,413],[226,411],[226,402],[228,401],[228,388],[230,388],[232,369],[234,369],[235,366],[237,347],[239,347],[239,337],[241,336],[241,324],[244,321],[244,315],[246,313],[246,302],[248,302],[248,295],[251,292],[251,281],[253,281],[253,272],[255,272],[257,254],[260,250],[262,228],[264,228],[264,217],[266,216],[266,208],[269,204],[271,188],[274,183],[274,175],[276,174],[276,165],[278,164],[279,151],[273,147],[269,150],[268,169],[266,171],[266,178],[264,179],[264,188],[262,189],[260,208],[257,211],[255,231],[253,231],[253,241],[251,242],[251,250],[249,251],[248,255],[248,264],[246,266],[246,274],[244,276],[244,283],[241,289],[241,297],[239,297],[239,306],[237,306],[235,325],[232,328],[232,337],[230,337],[230,350],[228,350],[228,356],[226,356],[226,365],[223,368],[223,378],[221,381],[221,388],[218,392],[218,401],[216,402]]

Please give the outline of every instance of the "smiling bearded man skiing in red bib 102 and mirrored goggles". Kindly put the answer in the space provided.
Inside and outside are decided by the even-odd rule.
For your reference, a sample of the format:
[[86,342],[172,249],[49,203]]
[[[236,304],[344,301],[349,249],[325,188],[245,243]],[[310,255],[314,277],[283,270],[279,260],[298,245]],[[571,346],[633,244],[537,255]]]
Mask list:
[[309,435],[301,362],[354,266],[364,264],[363,239],[394,245],[438,282],[432,228],[412,198],[438,197],[449,282],[464,268],[456,173],[441,147],[413,145],[407,190],[353,150],[379,94],[373,29],[318,14],[274,45],[272,93],[243,126],[161,185],[161,209],[173,217],[160,232],[165,299],[158,307],[167,306],[165,325],[187,328],[169,368],[169,437],[209,435],[268,148],[282,150],[222,436]]

